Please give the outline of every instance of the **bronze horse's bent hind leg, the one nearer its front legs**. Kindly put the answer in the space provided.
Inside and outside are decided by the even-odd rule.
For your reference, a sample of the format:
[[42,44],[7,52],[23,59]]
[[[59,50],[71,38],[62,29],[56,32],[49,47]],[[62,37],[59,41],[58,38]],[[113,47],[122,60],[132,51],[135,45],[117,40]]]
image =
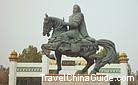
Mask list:
[[90,68],[90,66],[92,66],[94,64],[94,59],[89,58],[89,57],[83,57],[83,58],[87,61],[87,64],[82,70],[77,71],[75,74],[86,73],[88,71],[88,69]]

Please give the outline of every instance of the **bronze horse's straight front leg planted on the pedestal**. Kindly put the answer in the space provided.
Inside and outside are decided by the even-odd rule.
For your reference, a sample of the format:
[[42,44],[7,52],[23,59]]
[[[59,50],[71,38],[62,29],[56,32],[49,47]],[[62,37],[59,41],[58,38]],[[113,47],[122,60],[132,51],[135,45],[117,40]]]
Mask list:
[[61,57],[62,54],[59,51],[55,51],[56,60],[57,60],[57,71],[56,74],[59,74],[59,71],[62,70],[61,68]]

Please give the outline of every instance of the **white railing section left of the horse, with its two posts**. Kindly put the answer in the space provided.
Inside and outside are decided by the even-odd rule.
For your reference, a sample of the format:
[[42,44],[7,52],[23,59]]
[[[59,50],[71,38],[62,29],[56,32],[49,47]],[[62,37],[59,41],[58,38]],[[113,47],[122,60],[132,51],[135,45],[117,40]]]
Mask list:
[[16,57],[10,57],[9,85],[16,85],[16,77],[42,77],[49,74],[49,59],[43,55],[42,63],[17,63]]

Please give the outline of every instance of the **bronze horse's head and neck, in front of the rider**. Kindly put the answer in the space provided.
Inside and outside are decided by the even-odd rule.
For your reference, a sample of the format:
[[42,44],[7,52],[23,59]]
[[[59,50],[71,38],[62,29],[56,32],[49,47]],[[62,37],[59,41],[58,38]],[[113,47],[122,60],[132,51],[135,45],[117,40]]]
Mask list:
[[47,36],[49,37],[52,28],[53,28],[52,36],[59,36],[59,34],[67,31],[67,27],[64,26],[64,19],[62,20],[56,17],[49,17],[46,14],[43,23],[43,36],[47,34]]

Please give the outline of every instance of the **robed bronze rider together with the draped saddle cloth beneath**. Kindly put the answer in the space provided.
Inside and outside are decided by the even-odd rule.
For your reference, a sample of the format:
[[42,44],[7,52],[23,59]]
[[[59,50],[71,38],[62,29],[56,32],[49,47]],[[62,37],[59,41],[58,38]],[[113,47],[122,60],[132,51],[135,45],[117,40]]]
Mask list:
[[88,35],[84,16],[77,4],[73,6],[73,14],[69,17],[69,22],[63,22],[63,26],[69,26],[69,30],[56,36],[54,40],[50,38],[49,42],[45,44],[46,48],[56,50],[60,47],[59,49],[62,51],[71,50],[74,52],[80,50],[83,45],[81,43],[91,44],[96,41]]

